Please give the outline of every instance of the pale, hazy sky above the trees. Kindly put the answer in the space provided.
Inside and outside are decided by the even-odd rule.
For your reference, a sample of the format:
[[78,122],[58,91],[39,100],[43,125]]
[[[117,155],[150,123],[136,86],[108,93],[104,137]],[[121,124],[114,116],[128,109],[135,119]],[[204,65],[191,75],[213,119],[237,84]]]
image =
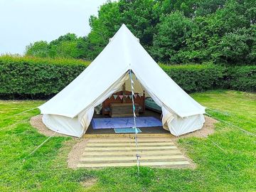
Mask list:
[[23,54],[35,41],[86,36],[89,18],[107,0],[0,0],[0,55]]

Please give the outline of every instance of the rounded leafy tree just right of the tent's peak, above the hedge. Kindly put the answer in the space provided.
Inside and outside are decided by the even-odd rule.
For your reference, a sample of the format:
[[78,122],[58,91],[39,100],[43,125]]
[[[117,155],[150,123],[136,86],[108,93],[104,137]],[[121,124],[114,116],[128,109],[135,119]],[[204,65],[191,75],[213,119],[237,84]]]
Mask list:
[[182,63],[183,58],[179,53],[186,50],[192,28],[191,19],[179,11],[163,18],[159,23],[159,33],[154,36],[154,47],[151,50],[156,60],[164,63]]

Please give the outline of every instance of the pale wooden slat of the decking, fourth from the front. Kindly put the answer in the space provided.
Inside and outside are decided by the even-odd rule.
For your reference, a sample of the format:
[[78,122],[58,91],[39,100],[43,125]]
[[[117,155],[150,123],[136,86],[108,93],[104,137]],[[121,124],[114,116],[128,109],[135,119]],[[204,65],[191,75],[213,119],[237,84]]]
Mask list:
[[107,146],[107,147],[86,147],[85,151],[136,151],[136,150],[165,150],[165,149],[177,149],[176,146]]

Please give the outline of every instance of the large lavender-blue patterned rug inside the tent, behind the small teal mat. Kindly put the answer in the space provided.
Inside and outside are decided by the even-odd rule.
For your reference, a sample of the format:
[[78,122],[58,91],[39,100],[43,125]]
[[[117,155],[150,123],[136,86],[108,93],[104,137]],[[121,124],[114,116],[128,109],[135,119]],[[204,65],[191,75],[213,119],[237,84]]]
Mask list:
[[[159,127],[162,123],[156,117],[137,117],[137,127]],[[93,118],[93,129],[129,128],[134,127],[133,117],[114,117],[114,118]]]

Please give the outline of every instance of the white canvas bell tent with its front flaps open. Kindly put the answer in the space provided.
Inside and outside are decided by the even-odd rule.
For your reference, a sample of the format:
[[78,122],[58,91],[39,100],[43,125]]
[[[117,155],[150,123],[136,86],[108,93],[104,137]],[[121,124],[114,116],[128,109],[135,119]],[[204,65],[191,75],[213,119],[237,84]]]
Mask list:
[[119,90],[129,70],[161,107],[164,129],[179,136],[203,127],[205,107],[164,73],[124,24],[73,82],[39,107],[43,123],[55,132],[82,137],[95,107]]

